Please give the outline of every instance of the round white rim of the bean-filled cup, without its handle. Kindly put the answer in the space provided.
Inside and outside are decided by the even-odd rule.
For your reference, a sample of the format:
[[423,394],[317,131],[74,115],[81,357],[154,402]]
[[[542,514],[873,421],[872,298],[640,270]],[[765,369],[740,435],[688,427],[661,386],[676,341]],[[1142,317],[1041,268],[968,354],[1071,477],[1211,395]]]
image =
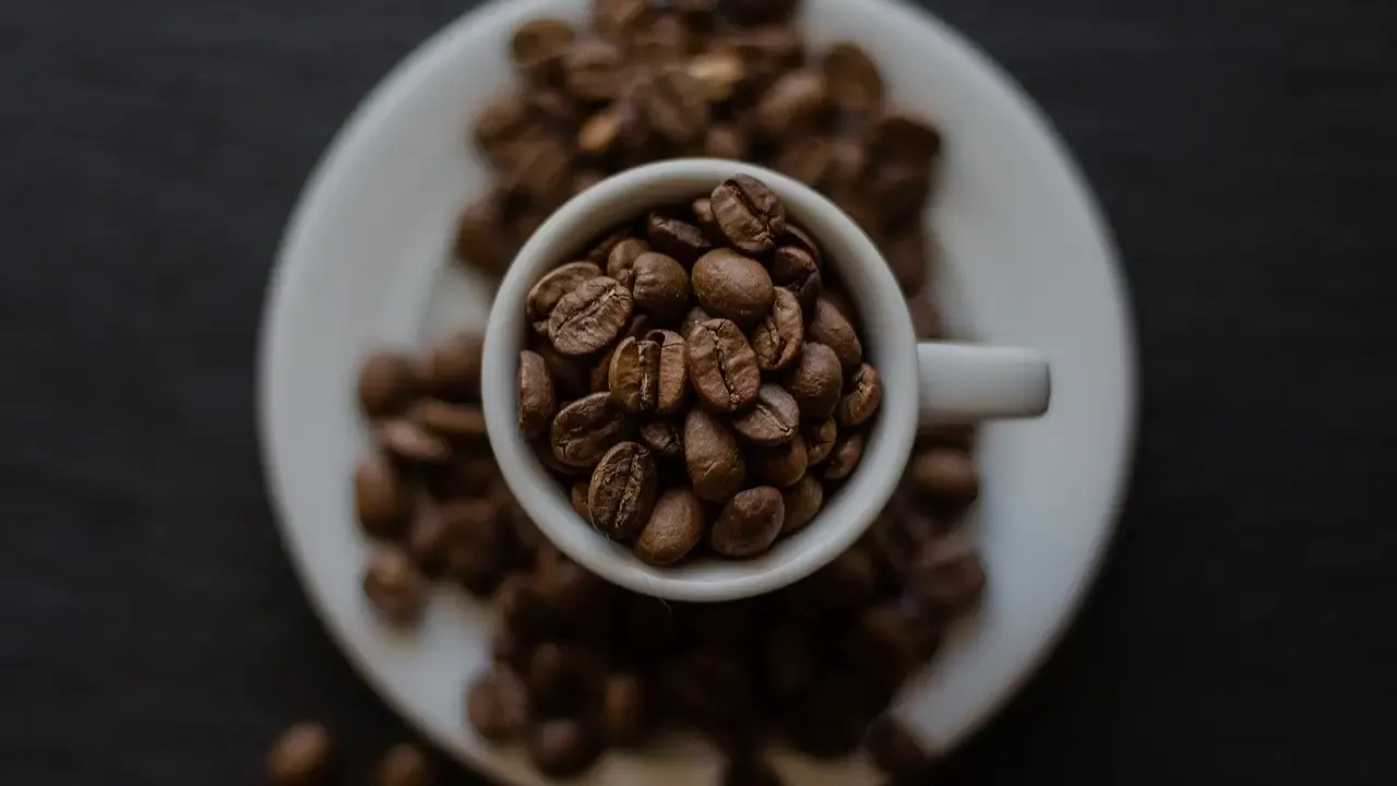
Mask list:
[[[854,474],[800,531],[749,559],[705,559],[655,566],[640,561],[624,544],[591,530],[566,499],[566,490],[539,463],[517,425],[517,364],[527,326],[524,302],[534,281],[606,227],[648,207],[703,193],[738,173],[754,176],[781,196],[827,252],[855,301],[865,338],[865,357],[883,376],[883,403],[865,455]],[[672,189],[675,196],[654,193]],[[651,196],[636,196],[651,194]],[[605,221],[598,214],[617,213]],[[875,264],[875,262],[877,262]],[[877,330],[869,326],[876,323]],[[916,340],[897,281],[869,236],[833,201],[809,186],[752,164],[718,158],[682,158],[637,166],[591,186],[555,211],[520,249],[496,291],[485,331],[482,401],[486,431],[510,491],[539,531],[563,554],[601,578],[655,597],[682,601],[726,601],[764,594],[809,576],[852,547],[891,498],[916,436]],[[884,373],[888,364],[905,364]],[[891,366],[888,366],[891,368]],[[539,491],[543,491],[542,494]],[[552,492],[549,492],[552,491]]]

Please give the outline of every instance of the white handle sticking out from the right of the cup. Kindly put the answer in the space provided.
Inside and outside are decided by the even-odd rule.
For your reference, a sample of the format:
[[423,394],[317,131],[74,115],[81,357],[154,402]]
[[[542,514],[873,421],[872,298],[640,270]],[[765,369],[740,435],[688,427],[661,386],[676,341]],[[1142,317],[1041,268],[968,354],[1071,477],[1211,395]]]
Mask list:
[[916,365],[922,425],[1038,417],[1052,397],[1048,359],[1032,350],[922,341]]

